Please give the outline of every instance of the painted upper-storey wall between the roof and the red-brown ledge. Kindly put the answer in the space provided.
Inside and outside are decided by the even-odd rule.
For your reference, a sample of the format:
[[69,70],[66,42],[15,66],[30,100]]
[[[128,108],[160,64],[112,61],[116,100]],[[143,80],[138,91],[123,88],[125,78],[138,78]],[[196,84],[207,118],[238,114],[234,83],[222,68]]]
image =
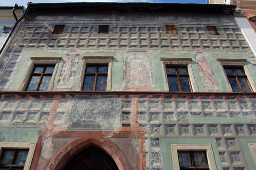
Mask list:
[[[22,23],[18,36],[3,54],[0,89],[22,89],[32,65],[30,57],[62,58],[54,78],[53,90],[57,91],[80,90],[78,86],[82,82],[84,56],[114,58],[111,91],[165,91],[161,57],[191,58],[200,92],[228,91],[216,56],[244,58],[248,61],[250,72],[255,72],[252,67],[255,56],[232,16],[136,15],[107,13],[104,16],[31,17]],[[52,34],[55,24],[63,22],[63,17],[66,18],[62,23],[66,24],[64,33]],[[189,24],[187,20],[190,20]],[[99,24],[109,24],[109,34],[98,34]],[[165,24],[175,24],[178,34],[166,34]],[[206,25],[215,25],[219,35],[208,34]],[[253,77],[253,80],[256,81],[256,78]]]

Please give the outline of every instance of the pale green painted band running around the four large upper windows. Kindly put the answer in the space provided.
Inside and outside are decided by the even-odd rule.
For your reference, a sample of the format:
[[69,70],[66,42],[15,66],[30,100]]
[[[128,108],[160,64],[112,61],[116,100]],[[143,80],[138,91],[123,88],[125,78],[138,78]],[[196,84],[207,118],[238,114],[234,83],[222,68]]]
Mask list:
[[[23,81],[25,79],[25,76],[28,72],[29,67],[31,66],[32,61],[30,60],[30,57],[62,57],[65,58],[66,54],[70,53],[76,53],[79,54],[79,61],[77,63],[76,72],[73,79],[73,86],[70,90],[78,90],[77,85],[80,82],[80,76],[81,76],[81,70],[83,67],[82,57],[84,56],[112,56],[114,57],[113,63],[112,63],[112,72],[111,72],[111,91],[120,91],[122,90],[122,81],[123,81],[123,60],[125,55],[130,52],[127,50],[76,50],[76,51],[70,51],[70,50],[38,50],[38,51],[29,51],[29,50],[23,50],[20,55],[22,55],[20,59],[19,66],[17,67],[16,73],[14,75],[14,79],[12,80],[10,84],[11,90],[19,90],[20,86],[23,84]],[[133,53],[141,53],[141,51],[132,51]],[[153,82],[154,82],[154,90],[155,91],[165,91],[164,88],[164,71],[162,67],[162,62],[160,61],[161,57],[165,58],[191,58],[191,66],[195,78],[195,82],[198,86],[199,92],[202,92],[202,85],[201,85],[201,76],[198,70],[198,63],[195,61],[194,54],[199,54],[193,51],[191,53],[173,53],[169,51],[159,51],[159,50],[148,50],[143,51],[143,53],[151,55],[152,56],[152,67],[153,67]],[[208,61],[209,65],[211,66],[215,79],[218,82],[219,90],[221,92],[228,92],[227,85],[224,79],[224,75],[221,71],[221,66],[219,62],[216,60],[217,58],[232,58],[232,59],[247,59],[248,57],[245,54],[241,55],[231,55],[231,54],[213,54],[211,52],[208,53],[202,53]],[[60,77],[61,68],[63,67],[64,60],[60,60],[59,66],[57,68],[57,72],[55,75],[54,80],[54,87],[53,90],[56,90],[56,86],[58,83],[58,78]],[[252,75],[255,73],[255,69],[249,61],[246,62],[246,65],[251,72]],[[20,76],[23,75],[23,76]],[[256,82],[256,76],[253,76],[253,79]]]

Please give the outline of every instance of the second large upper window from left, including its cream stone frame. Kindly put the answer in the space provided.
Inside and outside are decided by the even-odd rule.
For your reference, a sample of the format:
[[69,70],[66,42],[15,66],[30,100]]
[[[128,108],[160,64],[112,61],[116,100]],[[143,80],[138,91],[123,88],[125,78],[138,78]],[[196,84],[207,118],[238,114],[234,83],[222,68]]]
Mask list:
[[85,56],[78,90],[109,91],[113,57]]

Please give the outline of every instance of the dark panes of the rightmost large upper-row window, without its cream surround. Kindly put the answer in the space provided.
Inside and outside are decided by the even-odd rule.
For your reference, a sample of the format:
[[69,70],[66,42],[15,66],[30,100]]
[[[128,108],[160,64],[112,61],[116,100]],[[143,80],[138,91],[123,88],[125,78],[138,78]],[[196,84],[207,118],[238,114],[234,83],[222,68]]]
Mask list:
[[243,67],[223,66],[226,72],[229,84],[233,92],[251,92],[252,88],[248,82],[247,76],[244,73]]

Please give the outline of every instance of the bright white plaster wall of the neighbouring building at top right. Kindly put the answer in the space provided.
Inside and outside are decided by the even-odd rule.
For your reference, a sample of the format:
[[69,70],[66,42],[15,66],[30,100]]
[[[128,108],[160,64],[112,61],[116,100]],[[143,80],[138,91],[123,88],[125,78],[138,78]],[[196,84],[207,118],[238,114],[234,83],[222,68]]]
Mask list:
[[235,20],[256,55],[256,33],[253,27],[246,17],[236,17]]

